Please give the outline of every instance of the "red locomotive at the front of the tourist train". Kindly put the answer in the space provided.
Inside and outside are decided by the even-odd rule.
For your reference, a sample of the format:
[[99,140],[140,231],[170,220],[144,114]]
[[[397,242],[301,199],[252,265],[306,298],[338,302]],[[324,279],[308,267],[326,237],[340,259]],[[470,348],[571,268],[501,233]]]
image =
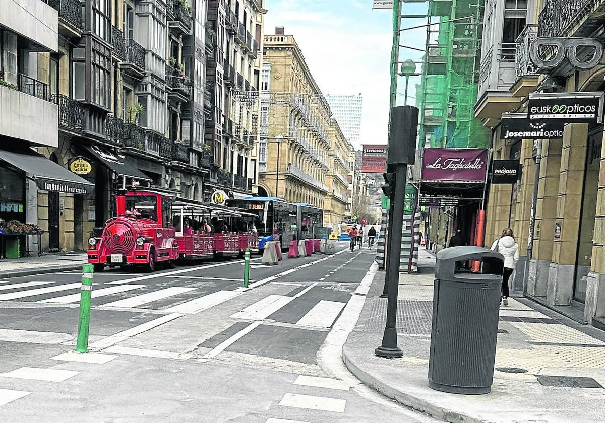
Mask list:
[[152,192],[116,196],[117,216],[105,223],[99,237],[88,240],[88,263],[96,273],[105,265],[143,265],[154,271],[159,262],[170,267],[178,259],[178,243],[171,215],[172,199]]

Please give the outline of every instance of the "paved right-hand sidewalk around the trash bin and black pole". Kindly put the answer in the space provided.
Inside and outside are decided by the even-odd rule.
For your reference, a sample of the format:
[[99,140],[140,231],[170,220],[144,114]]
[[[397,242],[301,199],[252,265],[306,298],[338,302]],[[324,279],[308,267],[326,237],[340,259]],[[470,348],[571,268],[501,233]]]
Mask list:
[[[356,328],[342,350],[348,369],[362,382],[402,404],[453,423],[603,421],[605,389],[576,387],[577,379],[560,376],[592,378],[596,386],[605,386],[604,332],[521,297],[510,299],[508,307],[500,307],[499,329],[505,332],[498,335],[495,368],[526,372],[496,370],[488,395],[454,395],[430,389],[434,257],[421,250],[419,259],[420,274],[403,275],[399,280],[397,338],[404,358],[387,360],[374,355],[374,348],[381,344],[387,309],[387,300],[378,297],[384,273],[374,279]],[[555,381],[566,384],[543,386],[536,375],[558,376]]]

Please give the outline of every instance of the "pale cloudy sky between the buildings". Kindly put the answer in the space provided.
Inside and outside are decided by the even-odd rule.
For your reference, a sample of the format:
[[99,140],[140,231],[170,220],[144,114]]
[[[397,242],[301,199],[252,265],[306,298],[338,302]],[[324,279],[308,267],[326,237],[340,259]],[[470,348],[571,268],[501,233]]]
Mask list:
[[361,93],[361,143],[381,144],[387,142],[393,31],[391,12],[371,7],[372,0],[267,0],[264,32],[286,27],[324,94]]

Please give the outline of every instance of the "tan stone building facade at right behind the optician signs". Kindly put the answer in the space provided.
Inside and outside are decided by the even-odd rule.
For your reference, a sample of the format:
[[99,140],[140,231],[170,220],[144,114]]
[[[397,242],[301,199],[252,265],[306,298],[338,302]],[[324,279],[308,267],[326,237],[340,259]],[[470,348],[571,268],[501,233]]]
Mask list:
[[[598,38],[595,31],[603,17],[598,8],[537,0],[507,3],[488,18],[486,28],[494,28],[494,34],[484,31],[489,43],[484,60],[490,63],[486,80],[499,82],[486,85],[476,115],[491,129],[494,158],[518,161],[522,177],[515,184],[490,187],[486,242],[509,225],[522,254],[515,287],[575,320],[605,329],[603,124],[566,122],[562,139],[504,140],[500,134],[502,115],[526,114],[531,92],[578,98],[605,89],[603,65],[575,69],[563,60],[553,69],[539,69],[529,57],[537,36]],[[502,39],[497,28],[503,28]],[[491,56],[500,51],[499,43],[509,44],[506,54]]]

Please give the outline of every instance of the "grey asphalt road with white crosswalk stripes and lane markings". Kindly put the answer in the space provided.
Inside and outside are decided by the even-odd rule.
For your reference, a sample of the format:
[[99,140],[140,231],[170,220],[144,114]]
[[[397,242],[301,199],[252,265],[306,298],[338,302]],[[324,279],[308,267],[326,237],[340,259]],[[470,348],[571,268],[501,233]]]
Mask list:
[[432,421],[342,365],[374,259],[347,246],[253,260],[249,289],[241,260],[95,274],[86,355],[78,272],[0,280],[0,421]]

